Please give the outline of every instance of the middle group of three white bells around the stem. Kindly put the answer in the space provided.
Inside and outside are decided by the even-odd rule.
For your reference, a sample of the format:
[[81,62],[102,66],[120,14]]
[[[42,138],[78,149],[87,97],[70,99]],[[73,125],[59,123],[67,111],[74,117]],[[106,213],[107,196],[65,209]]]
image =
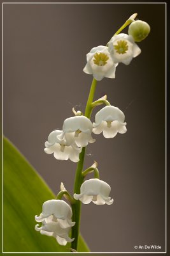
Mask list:
[[83,115],[67,118],[64,120],[62,131],[52,131],[48,136],[45,152],[53,153],[53,156],[59,160],[70,159],[78,162],[82,147],[96,141],[92,138],[92,132],[95,134],[103,132],[105,138],[113,138],[117,132],[127,131],[124,120],[124,113],[113,106],[106,106],[97,112],[93,124]]

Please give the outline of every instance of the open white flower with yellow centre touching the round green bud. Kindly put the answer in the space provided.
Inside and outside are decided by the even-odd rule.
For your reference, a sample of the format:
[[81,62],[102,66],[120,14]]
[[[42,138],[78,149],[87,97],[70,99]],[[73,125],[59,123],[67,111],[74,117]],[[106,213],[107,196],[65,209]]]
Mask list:
[[119,34],[113,36],[108,42],[108,49],[115,63],[122,62],[129,65],[132,58],[141,53],[141,49],[135,44],[131,35]]

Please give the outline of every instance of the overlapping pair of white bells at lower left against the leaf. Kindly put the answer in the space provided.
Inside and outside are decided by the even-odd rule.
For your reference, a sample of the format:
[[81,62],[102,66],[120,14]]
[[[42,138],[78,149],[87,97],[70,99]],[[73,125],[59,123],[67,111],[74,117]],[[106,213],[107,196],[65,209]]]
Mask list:
[[36,231],[46,236],[53,236],[60,245],[71,243],[74,239],[69,237],[69,231],[74,226],[71,221],[71,207],[62,200],[48,200],[43,204],[43,211],[39,216],[35,216],[37,222],[42,222],[42,226],[35,226]]

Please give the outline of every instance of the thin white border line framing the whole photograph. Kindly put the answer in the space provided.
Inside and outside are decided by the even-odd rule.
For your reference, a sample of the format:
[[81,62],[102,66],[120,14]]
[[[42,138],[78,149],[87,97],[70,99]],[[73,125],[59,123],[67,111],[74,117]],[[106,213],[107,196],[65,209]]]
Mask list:
[[[2,3],[4,4],[165,4],[166,6],[166,42],[167,42],[167,3]],[[2,8],[2,35],[3,34],[3,8]],[[2,36],[2,84],[3,84],[3,36]],[[166,44],[166,63],[167,63],[167,44]],[[166,67],[167,77],[167,67]],[[3,84],[4,85],[4,84]],[[167,79],[166,79],[166,116],[167,116]],[[2,86],[2,118],[3,118],[3,86]],[[167,119],[166,119],[167,127]],[[2,138],[3,138],[3,127],[2,127]],[[3,152],[3,140],[2,140],[2,152]],[[166,152],[167,152],[167,128],[166,128]],[[3,154],[2,154],[2,170],[3,170]],[[3,172],[2,172],[2,189],[3,189]],[[2,191],[2,202],[3,202],[3,191]],[[3,207],[2,207],[3,211]],[[166,252],[78,252],[78,253],[167,253],[167,154],[166,154]],[[3,214],[2,214],[2,249],[3,249]],[[2,253],[67,253],[67,252],[2,252]],[[69,252],[70,253],[70,252]]]

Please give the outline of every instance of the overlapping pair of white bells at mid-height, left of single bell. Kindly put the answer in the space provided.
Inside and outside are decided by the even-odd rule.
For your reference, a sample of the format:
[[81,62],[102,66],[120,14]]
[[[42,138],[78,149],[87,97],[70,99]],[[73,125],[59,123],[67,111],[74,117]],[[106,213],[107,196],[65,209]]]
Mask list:
[[93,143],[93,125],[85,116],[73,116],[64,120],[62,131],[56,130],[50,133],[45,142],[45,152],[52,154],[56,159],[73,162],[79,161],[82,147]]

